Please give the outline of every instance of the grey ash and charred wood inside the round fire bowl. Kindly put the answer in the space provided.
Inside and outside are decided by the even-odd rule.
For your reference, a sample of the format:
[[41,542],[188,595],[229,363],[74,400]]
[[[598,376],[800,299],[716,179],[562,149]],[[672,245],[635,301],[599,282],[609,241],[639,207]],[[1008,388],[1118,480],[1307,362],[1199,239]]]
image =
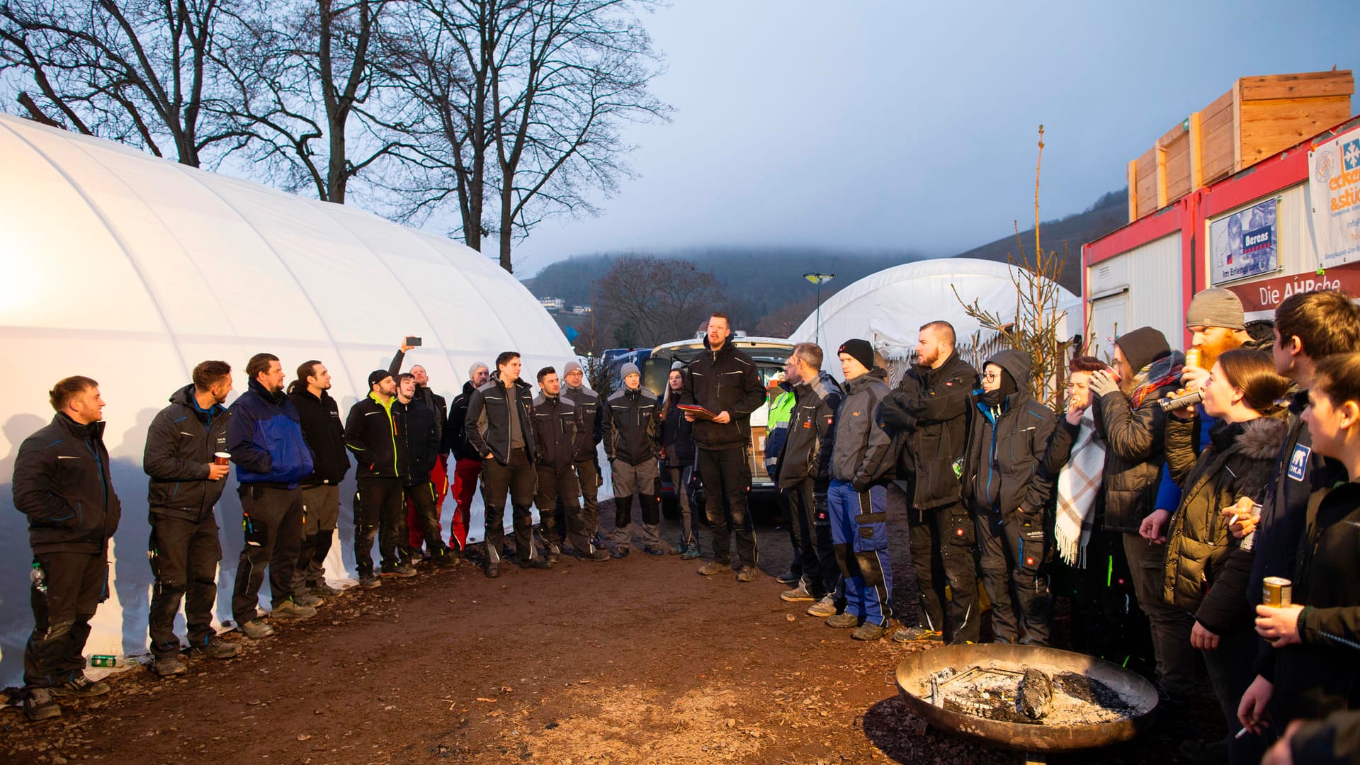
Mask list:
[[1028,726],[1095,726],[1148,711],[1087,675],[1004,664],[941,670],[926,677],[921,697],[951,712]]

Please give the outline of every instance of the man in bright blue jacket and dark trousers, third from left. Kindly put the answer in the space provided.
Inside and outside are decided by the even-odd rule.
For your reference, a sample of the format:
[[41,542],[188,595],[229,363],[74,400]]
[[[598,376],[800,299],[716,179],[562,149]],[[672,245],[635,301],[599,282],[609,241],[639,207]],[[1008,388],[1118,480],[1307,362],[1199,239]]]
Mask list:
[[245,546],[237,562],[231,614],[246,637],[268,637],[273,628],[260,619],[260,585],[269,569],[276,619],[317,615],[292,599],[292,572],[302,553],[302,489],[314,468],[302,436],[298,408],[283,392],[283,368],[273,354],[256,354],[246,363],[249,389],[231,404],[227,452],[237,464],[237,491],[245,525]]

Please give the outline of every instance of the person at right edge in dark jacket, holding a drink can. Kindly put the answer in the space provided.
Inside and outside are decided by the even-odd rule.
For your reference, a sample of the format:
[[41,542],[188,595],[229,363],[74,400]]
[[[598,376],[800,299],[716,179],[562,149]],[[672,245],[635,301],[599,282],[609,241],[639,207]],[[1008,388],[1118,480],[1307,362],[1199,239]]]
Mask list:
[[1293,602],[1255,608],[1257,634],[1272,642],[1238,720],[1258,732],[1282,734],[1360,700],[1360,353],[1316,362],[1303,421],[1312,451],[1338,460],[1346,478],[1318,482],[1308,497]]

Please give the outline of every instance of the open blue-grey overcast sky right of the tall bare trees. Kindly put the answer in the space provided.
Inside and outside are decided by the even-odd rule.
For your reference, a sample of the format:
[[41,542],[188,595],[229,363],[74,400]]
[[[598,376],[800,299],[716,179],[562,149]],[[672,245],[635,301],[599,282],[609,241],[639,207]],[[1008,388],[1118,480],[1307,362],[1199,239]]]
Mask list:
[[1081,211],[1236,78],[1360,67],[1356,10],[673,0],[643,22],[675,120],[630,128],[638,177],[540,225],[517,272],[696,245],[953,255],[1032,219],[1039,124],[1043,218]]

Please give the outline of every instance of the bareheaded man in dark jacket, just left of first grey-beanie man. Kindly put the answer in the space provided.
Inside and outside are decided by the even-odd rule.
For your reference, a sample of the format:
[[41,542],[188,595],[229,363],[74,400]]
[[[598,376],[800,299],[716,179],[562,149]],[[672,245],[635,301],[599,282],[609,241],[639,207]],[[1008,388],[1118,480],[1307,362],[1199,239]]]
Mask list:
[[539,474],[539,490],[534,504],[539,505],[543,542],[548,547],[548,561],[556,561],[560,553],[558,540],[562,532],[556,530],[556,509],[563,506],[566,540],[571,543],[577,557],[583,561],[608,561],[609,554],[590,540],[581,520],[581,487],[577,485],[577,471],[573,460],[581,451],[581,442],[589,441],[581,410],[575,402],[562,395],[562,380],[558,370],[545,366],[539,370],[539,395],[533,399],[533,442],[539,449],[534,468]]

